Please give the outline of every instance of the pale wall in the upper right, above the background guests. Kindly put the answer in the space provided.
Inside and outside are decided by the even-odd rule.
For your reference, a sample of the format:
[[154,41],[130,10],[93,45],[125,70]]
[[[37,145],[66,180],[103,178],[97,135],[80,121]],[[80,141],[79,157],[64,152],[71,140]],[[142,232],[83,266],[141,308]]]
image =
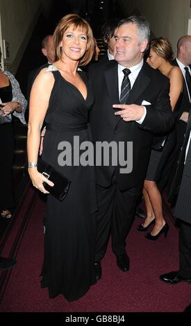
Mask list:
[[191,17],[190,0],[119,0],[124,11],[131,15],[138,10],[146,17],[156,37],[166,36],[176,54],[176,43],[181,35],[188,34]]

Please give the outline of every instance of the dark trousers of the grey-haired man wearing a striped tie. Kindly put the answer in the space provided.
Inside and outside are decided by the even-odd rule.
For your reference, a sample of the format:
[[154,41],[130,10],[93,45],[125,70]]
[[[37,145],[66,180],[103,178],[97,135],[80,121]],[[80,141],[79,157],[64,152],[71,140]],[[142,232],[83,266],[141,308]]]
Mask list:
[[105,188],[97,185],[98,212],[95,261],[100,261],[103,258],[110,232],[115,255],[122,255],[126,252],[125,239],[131,229],[141,191],[142,185],[120,191],[115,175],[110,187]]

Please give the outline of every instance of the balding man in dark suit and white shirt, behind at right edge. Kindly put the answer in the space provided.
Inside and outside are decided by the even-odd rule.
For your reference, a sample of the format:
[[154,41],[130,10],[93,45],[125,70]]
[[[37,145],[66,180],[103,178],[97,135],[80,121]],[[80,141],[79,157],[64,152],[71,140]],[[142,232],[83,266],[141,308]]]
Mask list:
[[[174,173],[177,168],[177,160],[181,153],[181,146],[184,141],[184,134],[187,127],[188,114],[190,112],[190,91],[188,87],[187,80],[185,78],[185,67],[188,67],[189,73],[191,65],[191,36],[182,36],[177,43],[177,58],[174,59],[174,66],[178,66],[183,74],[183,93],[181,96],[181,102],[178,105],[177,120],[174,126],[176,130],[176,146],[174,147],[172,153],[169,156],[167,164],[163,169],[163,173],[158,183],[159,189],[162,191],[165,185],[168,183],[168,188],[171,187]],[[171,201],[172,199],[169,198]]]

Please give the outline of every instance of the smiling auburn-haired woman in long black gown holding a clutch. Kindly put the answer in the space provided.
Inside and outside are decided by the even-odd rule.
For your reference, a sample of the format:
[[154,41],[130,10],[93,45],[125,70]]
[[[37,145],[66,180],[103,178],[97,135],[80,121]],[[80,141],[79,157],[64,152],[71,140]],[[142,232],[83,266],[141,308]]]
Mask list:
[[[69,144],[69,157],[90,139],[88,112],[94,96],[85,73],[78,65],[87,65],[94,52],[89,24],[76,14],[69,14],[58,23],[53,34],[56,62],[42,69],[31,90],[28,121],[28,171],[33,185],[44,194],[42,182],[53,183],[38,172],[37,160],[40,130],[46,121],[42,159],[71,180],[69,193],[63,201],[47,196],[45,213],[44,263],[42,287],[49,297],[63,294],[69,301],[84,295],[94,275],[94,167],[64,164],[63,141]],[[77,139],[77,140],[76,140]],[[75,141],[78,142],[73,144]],[[65,143],[66,144],[66,143]],[[75,152],[76,153],[76,152]],[[68,157],[67,157],[68,158]],[[75,160],[78,159],[75,157]],[[59,164],[58,164],[59,162]]]

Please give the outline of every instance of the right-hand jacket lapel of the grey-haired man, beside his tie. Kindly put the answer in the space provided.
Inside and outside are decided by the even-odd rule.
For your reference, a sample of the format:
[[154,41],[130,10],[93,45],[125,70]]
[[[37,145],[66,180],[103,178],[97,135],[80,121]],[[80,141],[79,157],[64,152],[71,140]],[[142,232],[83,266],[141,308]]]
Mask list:
[[135,103],[138,97],[142,94],[142,92],[144,92],[144,89],[146,89],[149,85],[151,80],[147,75],[146,69],[147,66],[145,66],[144,64],[142,66],[142,69],[140,70],[140,73],[138,74],[138,77],[135,80],[135,83],[133,84],[133,88],[131,89],[126,104]]

